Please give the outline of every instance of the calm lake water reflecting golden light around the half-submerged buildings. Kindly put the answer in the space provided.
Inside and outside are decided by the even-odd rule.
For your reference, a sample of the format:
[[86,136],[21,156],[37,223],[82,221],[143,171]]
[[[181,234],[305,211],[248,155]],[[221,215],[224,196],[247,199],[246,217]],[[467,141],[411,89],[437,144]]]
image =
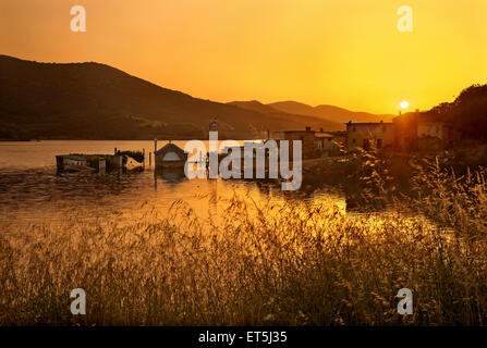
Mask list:
[[[173,141],[184,148],[185,141]],[[167,141],[159,141],[158,148]],[[97,174],[57,174],[56,154],[113,153],[113,149],[154,151],[154,141],[46,140],[0,142],[0,219],[12,226],[62,224],[65,216],[77,219],[117,217],[132,221],[148,211],[166,214],[174,201],[187,202],[198,216],[218,214],[224,199],[236,194],[255,201],[300,199],[337,204],[345,209],[345,197],[331,187],[304,185],[299,191],[283,192],[268,181],[187,179],[175,173],[158,173],[154,167]]]

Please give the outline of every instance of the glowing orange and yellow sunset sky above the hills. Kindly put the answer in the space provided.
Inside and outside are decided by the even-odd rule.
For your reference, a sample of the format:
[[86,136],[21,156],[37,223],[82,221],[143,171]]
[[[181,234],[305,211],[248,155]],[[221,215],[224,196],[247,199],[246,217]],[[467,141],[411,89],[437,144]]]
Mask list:
[[[86,33],[70,29],[86,9]],[[400,33],[400,5],[413,33]],[[96,61],[216,101],[397,113],[487,83],[487,0],[1,0],[0,53]]]

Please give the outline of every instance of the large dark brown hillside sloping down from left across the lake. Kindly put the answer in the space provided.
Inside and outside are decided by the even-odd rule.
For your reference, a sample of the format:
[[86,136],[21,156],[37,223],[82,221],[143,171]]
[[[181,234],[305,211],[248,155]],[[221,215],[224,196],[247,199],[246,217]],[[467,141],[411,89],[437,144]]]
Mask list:
[[193,98],[104,64],[0,55],[0,139],[205,138],[214,116],[234,139],[329,124]]

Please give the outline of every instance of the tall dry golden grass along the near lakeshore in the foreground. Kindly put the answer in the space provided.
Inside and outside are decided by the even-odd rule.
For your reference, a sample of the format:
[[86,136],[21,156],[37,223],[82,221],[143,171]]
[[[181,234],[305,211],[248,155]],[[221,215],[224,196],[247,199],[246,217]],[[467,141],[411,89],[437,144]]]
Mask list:
[[[176,202],[130,226],[72,217],[2,234],[0,323],[484,325],[486,172],[431,165],[415,177],[421,195],[389,214],[234,197],[218,223]],[[76,287],[86,315],[70,312]],[[412,315],[397,313],[403,287]]]

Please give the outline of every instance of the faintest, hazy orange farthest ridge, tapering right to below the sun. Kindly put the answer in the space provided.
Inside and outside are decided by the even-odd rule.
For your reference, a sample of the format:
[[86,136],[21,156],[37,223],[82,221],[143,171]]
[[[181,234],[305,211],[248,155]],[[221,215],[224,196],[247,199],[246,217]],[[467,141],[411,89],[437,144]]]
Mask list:
[[317,105],[311,107],[296,101],[279,101],[267,104],[273,109],[292,113],[325,119],[338,123],[352,122],[389,122],[394,115],[376,115],[368,112],[354,112],[333,105]]

